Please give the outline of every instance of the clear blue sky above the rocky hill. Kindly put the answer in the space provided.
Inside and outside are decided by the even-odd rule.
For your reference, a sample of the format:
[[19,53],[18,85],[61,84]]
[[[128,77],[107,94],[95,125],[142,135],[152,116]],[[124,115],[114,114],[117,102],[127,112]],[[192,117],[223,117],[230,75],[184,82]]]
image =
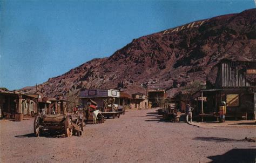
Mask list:
[[0,87],[40,84],[133,38],[252,8],[251,0],[0,0]]

